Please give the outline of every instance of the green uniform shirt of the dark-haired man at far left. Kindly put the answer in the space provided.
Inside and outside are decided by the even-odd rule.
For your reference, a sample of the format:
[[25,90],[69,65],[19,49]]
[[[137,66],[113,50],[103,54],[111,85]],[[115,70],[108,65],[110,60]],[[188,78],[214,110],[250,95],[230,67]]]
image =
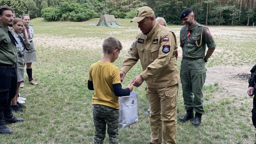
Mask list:
[[16,47],[12,45],[8,34],[9,28],[0,24],[0,64],[14,65],[17,63]]

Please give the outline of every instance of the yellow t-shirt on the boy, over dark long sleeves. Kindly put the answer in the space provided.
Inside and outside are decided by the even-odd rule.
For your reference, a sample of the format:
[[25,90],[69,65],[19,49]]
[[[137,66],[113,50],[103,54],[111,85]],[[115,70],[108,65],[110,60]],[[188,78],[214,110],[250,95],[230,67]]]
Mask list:
[[89,70],[89,81],[93,82],[92,104],[105,105],[119,109],[118,97],[113,84],[121,83],[119,68],[108,62],[93,63]]

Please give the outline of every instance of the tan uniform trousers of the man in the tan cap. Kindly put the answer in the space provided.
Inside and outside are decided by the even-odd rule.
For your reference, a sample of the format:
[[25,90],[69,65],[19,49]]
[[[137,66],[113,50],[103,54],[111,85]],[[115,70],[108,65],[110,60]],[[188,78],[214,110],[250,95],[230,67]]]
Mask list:
[[151,143],[176,144],[178,84],[163,88],[146,89],[150,103]]

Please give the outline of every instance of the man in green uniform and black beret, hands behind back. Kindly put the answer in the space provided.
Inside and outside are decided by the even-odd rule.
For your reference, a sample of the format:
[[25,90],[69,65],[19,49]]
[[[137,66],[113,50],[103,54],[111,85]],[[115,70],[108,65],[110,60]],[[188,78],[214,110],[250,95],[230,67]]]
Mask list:
[[[181,83],[184,106],[187,113],[180,117],[179,121],[185,122],[194,118],[192,125],[201,124],[201,116],[204,114],[202,87],[206,78],[205,63],[215,50],[215,42],[208,27],[194,20],[192,9],[184,9],[181,13],[182,23],[180,42],[183,51],[181,62]],[[206,45],[208,51],[205,55]]]

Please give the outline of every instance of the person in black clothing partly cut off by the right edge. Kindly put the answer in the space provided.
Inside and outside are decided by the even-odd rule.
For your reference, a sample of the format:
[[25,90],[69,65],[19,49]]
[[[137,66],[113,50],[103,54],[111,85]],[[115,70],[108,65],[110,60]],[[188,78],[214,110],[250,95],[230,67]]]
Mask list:
[[[248,80],[249,86],[247,89],[248,96],[253,97],[253,109],[252,109],[252,122],[253,126],[256,128],[256,64],[251,69],[251,77]],[[255,134],[256,137],[256,134]],[[256,142],[254,143],[256,144]]]

